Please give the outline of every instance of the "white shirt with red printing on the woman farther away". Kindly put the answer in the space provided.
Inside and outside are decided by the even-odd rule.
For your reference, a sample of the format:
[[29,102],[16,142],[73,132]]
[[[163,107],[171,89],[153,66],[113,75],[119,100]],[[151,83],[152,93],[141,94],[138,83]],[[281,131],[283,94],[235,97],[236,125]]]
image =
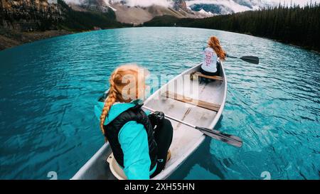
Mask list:
[[217,72],[217,61],[219,61],[219,58],[212,48],[208,47],[203,50],[203,62],[201,65],[203,70],[206,72]]

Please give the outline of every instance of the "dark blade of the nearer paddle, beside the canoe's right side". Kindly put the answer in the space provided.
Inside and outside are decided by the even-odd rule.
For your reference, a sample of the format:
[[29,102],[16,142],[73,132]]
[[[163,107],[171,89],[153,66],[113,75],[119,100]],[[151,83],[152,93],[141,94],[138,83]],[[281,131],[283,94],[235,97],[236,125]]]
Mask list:
[[212,137],[213,139],[217,139],[219,141],[223,141],[227,144],[230,144],[232,146],[241,147],[242,146],[242,140],[238,136],[233,136],[230,134],[223,134],[220,131],[212,130],[212,129],[206,129],[204,127],[197,127],[199,131],[201,131],[203,134],[206,134],[207,136]]

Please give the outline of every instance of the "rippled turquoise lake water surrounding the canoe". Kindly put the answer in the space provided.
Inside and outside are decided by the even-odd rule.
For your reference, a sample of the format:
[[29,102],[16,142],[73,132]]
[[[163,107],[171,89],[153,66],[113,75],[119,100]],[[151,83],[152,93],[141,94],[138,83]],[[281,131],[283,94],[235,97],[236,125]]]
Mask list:
[[50,38],[0,52],[0,178],[71,178],[102,146],[93,106],[117,65],[174,77],[201,62],[209,36],[228,59],[228,97],[215,129],[171,178],[319,179],[320,55],[263,38],[198,28],[122,28]]

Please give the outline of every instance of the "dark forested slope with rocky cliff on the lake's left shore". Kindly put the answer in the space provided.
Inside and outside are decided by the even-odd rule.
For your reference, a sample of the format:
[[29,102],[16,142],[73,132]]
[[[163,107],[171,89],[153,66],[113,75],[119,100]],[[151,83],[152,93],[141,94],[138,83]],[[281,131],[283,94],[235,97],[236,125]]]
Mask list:
[[78,31],[132,26],[116,21],[110,7],[91,5],[75,10],[62,0],[1,0],[0,50]]

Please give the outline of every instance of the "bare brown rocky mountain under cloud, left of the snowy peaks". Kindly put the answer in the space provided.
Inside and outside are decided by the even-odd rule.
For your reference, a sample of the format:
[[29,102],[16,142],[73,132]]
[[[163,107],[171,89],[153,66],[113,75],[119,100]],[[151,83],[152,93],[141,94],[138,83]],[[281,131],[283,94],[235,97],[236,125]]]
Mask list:
[[177,18],[203,18],[206,14],[191,11],[184,0],[82,0],[67,1],[75,11],[114,12],[115,19],[121,23],[139,25],[156,16],[175,16]]

